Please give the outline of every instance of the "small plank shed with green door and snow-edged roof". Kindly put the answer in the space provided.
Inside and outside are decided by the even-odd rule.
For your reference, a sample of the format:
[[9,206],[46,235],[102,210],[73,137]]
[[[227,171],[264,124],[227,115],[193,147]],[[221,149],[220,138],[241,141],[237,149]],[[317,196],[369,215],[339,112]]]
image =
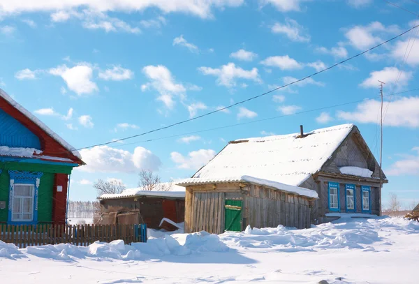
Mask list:
[[310,227],[314,190],[256,177],[185,179],[185,232],[214,234],[252,227]]

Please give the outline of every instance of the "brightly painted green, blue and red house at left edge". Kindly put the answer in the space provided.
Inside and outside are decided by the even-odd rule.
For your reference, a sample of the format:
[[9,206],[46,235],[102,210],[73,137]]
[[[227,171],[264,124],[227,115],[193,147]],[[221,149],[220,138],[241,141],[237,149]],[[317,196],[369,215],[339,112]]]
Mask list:
[[0,224],[66,222],[80,154],[0,89]]

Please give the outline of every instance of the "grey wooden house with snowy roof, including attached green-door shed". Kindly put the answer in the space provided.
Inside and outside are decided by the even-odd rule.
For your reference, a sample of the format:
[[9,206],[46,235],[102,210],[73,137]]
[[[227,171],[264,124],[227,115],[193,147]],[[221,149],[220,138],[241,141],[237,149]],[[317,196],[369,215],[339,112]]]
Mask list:
[[[235,140],[178,183],[186,187],[185,231],[309,227],[341,214],[381,215],[380,177],[388,182],[353,124]],[[233,209],[240,211],[234,220]]]

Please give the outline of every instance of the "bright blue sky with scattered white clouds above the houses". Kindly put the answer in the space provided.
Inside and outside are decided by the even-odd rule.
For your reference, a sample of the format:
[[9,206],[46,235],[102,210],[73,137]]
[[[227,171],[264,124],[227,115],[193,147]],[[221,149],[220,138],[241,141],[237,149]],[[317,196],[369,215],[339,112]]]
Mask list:
[[[0,84],[76,148],[256,96],[392,38],[416,20],[378,0],[75,2],[0,4]],[[418,3],[395,3],[419,13]],[[96,179],[135,187],[143,167],[163,181],[190,177],[228,140],[295,133],[300,124],[312,130],[354,123],[378,159],[378,100],[298,112],[378,96],[377,80],[386,83],[385,95],[419,88],[417,36],[413,30],[228,112],[82,150],[88,165],[73,172],[71,199],[94,200]],[[419,201],[418,94],[385,98],[384,207],[390,193],[404,204]],[[293,115],[182,135],[281,114]],[[179,136],[143,142],[172,135]]]

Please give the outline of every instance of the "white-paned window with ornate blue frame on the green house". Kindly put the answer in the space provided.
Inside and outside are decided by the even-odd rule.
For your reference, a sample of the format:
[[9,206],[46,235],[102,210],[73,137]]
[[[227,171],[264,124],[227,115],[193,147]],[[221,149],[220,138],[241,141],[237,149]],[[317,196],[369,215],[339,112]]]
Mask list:
[[8,223],[36,224],[38,222],[38,188],[42,172],[9,170]]

